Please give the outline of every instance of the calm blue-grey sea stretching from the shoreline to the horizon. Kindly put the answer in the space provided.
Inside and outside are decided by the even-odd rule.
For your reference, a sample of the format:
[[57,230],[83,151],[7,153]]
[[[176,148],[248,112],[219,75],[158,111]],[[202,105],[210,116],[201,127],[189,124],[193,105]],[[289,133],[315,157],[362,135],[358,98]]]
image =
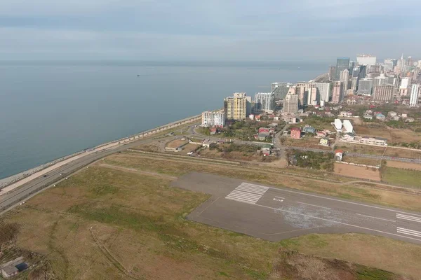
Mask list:
[[[0,62],[0,179],[222,107],[232,92],[310,80],[323,63]],[[137,77],[140,75],[140,77]]]

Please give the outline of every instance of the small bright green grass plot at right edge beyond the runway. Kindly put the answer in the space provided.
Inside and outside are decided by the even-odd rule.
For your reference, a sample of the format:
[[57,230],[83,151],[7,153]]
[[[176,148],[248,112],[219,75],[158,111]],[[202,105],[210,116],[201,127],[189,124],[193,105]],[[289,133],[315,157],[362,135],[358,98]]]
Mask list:
[[385,167],[382,169],[382,181],[399,186],[421,188],[421,171]]

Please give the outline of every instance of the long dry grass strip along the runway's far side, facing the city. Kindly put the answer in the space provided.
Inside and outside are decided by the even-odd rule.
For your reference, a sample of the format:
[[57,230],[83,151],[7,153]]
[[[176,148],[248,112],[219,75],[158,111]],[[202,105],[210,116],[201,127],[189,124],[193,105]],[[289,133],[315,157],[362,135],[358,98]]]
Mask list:
[[[228,165],[217,165],[211,162],[198,162],[196,160],[171,160],[169,158],[149,158],[142,155],[119,154],[112,155],[105,159],[105,162],[112,165],[121,165],[135,169],[151,170],[163,174],[180,176],[188,172],[208,172],[229,176],[258,183],[265,183],[272,186],[295,188],[307,190],[335,197],[373,202],[391,207],[420,211],[420,197],[408,193],[396,193],[389,190],[377,190],[367,186],[347,186],[342,183],[333,183],[316,179],[323,172],[307,169],[286,169],[293,174],[277,173],[275,169],[248,169],[246,167],[234,167]],[[324,173],[326,179],[332,179],[336,174]],[[312,176],[308,179],[305,176]],[[345,178],[345,177],[342,177]],[[353,179],[347,179],[353,181]]]

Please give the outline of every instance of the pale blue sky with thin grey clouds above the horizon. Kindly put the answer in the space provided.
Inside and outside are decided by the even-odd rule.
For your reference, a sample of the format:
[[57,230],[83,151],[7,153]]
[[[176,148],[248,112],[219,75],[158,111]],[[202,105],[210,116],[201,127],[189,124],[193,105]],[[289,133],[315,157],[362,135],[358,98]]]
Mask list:
[[421,59],[421,1],[1,0],[0,60]]

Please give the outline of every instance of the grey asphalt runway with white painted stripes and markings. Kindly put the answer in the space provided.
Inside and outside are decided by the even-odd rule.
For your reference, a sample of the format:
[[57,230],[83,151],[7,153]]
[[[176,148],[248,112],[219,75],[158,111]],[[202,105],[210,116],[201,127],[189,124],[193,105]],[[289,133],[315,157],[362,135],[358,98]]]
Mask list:
[[[286,183],[286,182],[285,182]],[[356,232],[421,244],[421,213],[190,173],[173,186],[213,195],[187,218],[269,241]]]

